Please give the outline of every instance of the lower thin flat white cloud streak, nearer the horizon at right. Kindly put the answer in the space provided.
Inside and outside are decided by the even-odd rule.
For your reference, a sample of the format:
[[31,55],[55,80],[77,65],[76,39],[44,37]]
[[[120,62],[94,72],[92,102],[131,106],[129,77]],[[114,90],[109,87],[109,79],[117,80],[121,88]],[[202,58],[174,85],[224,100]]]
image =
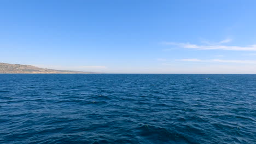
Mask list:
[[183,62],[219,62],[219,63],[240,63],[240,64],[256,64],[256,60],[225,60],[225,59],[176,59]]

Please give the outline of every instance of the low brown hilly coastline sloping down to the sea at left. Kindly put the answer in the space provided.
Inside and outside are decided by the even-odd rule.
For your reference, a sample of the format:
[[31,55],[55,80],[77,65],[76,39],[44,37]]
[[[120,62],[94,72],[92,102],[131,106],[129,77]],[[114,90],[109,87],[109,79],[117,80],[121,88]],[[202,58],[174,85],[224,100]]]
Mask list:
[[102,73],[43,69],[43,68],[34,67],[33,65],[0,63],[0,74],[102,74]]

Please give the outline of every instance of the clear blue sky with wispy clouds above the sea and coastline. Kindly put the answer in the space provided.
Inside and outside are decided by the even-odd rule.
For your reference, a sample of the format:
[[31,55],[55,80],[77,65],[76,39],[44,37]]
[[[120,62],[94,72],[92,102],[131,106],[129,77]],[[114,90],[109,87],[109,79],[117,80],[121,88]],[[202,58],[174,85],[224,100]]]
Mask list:
[[103,73],[256,74],[256,1],[1,0],[0,62]]

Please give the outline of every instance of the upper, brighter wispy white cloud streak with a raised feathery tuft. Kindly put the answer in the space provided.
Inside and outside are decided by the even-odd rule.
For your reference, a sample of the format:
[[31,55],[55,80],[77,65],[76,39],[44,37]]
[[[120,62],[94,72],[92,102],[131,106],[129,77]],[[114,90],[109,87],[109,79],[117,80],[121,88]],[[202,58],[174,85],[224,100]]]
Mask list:
[[174,43],[163,42],[165,45],[174,45],[185,49],[198,49],[198,50],[231,50],[231,51],[256,51],[256,45],[249,46],[227,46],[224,43],[230,42],[230,39],[220,41],[219,43],[207,43],[207,45],[196,45],[190,43]]

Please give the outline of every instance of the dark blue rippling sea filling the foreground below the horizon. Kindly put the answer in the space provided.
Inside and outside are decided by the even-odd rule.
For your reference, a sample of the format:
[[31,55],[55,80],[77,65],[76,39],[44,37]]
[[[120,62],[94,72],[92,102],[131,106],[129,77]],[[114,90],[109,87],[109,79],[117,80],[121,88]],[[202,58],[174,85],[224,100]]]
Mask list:
[[255,140],[256,75],[0,75],[0,143]]

